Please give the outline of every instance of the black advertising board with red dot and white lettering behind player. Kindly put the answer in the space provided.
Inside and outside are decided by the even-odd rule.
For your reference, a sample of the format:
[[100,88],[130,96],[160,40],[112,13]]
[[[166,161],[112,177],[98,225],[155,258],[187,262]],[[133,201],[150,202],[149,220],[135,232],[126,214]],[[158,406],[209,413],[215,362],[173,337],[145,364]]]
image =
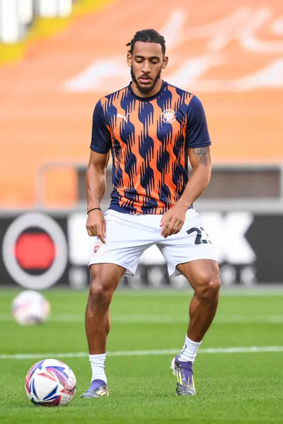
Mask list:
[[[283,214],[205,212],[202,220],[216,250],[224,285],[283,282]],[[85,224],[83,213],[1,216],[0,286],[86,287],[95,243]],[[120,285],[183,288],[187,281],[183,276],[168,277],[166,262],[154,246],[142,255],[137,275],[123,278]]]

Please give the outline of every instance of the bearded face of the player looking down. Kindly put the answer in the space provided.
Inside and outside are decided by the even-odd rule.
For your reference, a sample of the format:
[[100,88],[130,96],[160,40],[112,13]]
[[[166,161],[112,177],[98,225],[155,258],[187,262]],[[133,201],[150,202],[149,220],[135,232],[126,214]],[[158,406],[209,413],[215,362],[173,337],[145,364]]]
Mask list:
[[149,94],[153,90],[167,63],[168,57],[163,56],[161,45],[155,42],[138,41],[132,55],[127,55],[132,81],[142,94]]

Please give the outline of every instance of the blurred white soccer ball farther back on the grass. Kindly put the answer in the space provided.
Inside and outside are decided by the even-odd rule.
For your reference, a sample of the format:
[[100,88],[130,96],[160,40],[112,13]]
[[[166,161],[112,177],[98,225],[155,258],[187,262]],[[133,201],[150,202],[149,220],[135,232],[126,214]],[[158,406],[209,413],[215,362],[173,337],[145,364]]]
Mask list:
[[18,324],[41,324],[50,314],[50,303],[40,293],[25,290],[13,300],[12,313]]

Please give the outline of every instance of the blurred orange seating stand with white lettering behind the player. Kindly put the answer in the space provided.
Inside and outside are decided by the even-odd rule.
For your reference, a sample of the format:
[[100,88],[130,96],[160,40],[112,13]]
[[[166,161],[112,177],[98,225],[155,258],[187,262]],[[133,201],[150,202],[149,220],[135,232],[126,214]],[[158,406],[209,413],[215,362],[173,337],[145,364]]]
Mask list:
[[[164,79],[201,98],[214,163],[282,163],[283,3],[163,0],[151,10],[150,0],[108,4],[0,68],[1,205],[35,206],[46,163],[87,163],[93,107],[129,82],[125,44],[142,28],[166,37]],[[50,172],[47,205],[74,205],[74,172]]]

